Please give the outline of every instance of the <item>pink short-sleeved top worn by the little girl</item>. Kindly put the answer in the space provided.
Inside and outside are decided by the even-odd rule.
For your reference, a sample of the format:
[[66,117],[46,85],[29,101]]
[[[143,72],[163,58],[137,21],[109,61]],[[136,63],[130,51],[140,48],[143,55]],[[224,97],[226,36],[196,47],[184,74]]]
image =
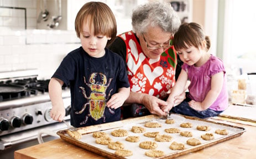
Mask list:
[[210,59],[201,67],[190,66],[184,63],[181,68],[186,71],[191,81],[189,85],[189,97],[191,100],[200,102],[205,99],[207,92],[211,89],[212,75],[224,72],[221,93],[209,108],[215,111],[223,111],[228,107],[226,70],[220,58],[211,55]]

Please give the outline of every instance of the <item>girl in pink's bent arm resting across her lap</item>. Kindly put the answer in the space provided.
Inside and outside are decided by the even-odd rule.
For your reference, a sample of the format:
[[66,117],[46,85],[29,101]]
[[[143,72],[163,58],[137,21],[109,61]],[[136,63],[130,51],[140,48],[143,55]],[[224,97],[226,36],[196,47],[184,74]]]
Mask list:
[[208,107],[212,105],[213,102],[217,99],[218,95],[220,95],[224,73],[220,72],[212,76],[211,78],[211,89],[208,91],[205,100],[202,102],[196,102],[194,100],[189,102],[189,106],[197,111],[204,111]]

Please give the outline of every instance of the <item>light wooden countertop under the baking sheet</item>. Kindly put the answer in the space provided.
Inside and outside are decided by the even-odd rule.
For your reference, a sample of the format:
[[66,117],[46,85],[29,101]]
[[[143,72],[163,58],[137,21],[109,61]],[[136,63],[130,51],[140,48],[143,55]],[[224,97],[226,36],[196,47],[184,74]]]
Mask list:
[[[220,122],[220,120],[218,120]],[[237,138],[233,138],[217,145],[206,147],[205,149],[196,152],[188,153],[177,157],[177,159],[240,159],[240,158],[255,158],[256,157],[256,144],[255,132],[256,127],[238,123],[228,123],[243,127],[246,131]],[[14,159],[32,159],[32,158],[106,158],[96,153],[87,151],[80,147],[70,144],[62,139],[56,139],[43,144],[27,147],[25,149],[17,150],[14,152]]]

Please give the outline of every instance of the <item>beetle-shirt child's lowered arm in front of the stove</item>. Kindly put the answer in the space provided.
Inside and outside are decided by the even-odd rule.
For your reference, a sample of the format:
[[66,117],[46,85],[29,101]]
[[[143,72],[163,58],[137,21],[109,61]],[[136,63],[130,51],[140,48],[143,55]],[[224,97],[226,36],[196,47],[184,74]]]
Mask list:
[[62,100],[62,85],[64,82],[60,79],[51,78],[49,83],[49,96],[51,99],[51,109],[50,116],[54,120],[61,122],[65,117],[65,108]]

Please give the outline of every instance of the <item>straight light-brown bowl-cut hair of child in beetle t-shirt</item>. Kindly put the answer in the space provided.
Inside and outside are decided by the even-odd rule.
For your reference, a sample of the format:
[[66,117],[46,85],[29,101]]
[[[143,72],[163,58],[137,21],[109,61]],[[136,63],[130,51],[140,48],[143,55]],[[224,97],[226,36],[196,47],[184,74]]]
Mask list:
[[117,35],[117,23],[113,12],[102,2],[85,3],[76,15],[75,30],[77,37],[80,37],[83,21],[88,19],[90,29],[94,28],[94,35],[102,34],[111,37],[111,43]]

